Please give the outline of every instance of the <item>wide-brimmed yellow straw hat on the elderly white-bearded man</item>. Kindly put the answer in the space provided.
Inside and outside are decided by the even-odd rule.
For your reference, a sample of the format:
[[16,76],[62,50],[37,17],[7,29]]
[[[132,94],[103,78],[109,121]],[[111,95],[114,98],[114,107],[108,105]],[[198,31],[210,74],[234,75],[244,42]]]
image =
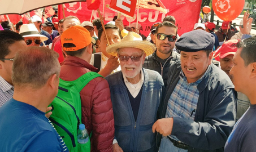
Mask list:
[[146,53],[146,56],[151,55],[155,52],[154,44],[147,41],[143,41],[142,37],[134,32],[129,32],[128,35],[121,40],[121,42],[114,43],[111,46],[108,46],[106,48],[106,51],[112,56],[117,56],[116,50],[118,48],[125,47],[139,48]]

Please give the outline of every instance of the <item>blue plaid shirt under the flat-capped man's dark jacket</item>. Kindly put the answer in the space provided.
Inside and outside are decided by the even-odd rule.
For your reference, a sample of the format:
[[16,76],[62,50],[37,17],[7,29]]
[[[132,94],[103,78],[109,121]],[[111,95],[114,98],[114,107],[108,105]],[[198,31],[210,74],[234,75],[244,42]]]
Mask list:
[[[183,71],[180,71],[179,82],[176,84],[176,87],[168,101],[166,118],[180,117],[188,120],[194,120],[199,97],[197,85],[208,73],[209,66],[201,78],[196,82],[188,83]],[[171,138],[179,141],[175,136],[171,136]]]

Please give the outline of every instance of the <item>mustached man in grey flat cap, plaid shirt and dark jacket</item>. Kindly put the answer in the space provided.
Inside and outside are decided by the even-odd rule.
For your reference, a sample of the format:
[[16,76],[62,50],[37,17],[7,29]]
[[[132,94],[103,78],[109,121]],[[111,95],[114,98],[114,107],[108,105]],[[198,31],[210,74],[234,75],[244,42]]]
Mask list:
[[231,79],[211,64],[214,40],[210,33],[193,30],[176,42],[180,61],[170,66],[161,119],[152,128],[160,152],[223,151],[237,104]]

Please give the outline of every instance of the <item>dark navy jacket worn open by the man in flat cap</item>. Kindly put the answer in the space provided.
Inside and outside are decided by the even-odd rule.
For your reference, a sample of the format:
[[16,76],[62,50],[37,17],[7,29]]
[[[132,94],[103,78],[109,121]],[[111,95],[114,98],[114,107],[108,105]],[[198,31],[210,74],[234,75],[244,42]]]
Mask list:
[[[235,124],[237,101],[234,86],[224,71],[209,65],[210,74],[198,84],[199,98],[193,120],[173,117],[171,135],[189,145],[190,151],[224,151]],[[179,81],[180,61],[174,62],[168,71],[167,91],[159,107],[158,118],[165,118],[168,100]],[[161,135],[157,135],[160,144]]]

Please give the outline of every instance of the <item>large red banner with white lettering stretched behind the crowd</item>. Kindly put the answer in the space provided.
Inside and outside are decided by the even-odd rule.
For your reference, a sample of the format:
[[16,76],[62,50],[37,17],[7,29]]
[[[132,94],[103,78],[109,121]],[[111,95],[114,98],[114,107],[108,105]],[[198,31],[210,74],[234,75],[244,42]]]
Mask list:
[[[139,10],[138,23],[142,25],[140,31],[142,34],[147,36],[150,33],[150,28],[154,23],[162,22],[164,17],[172,15],[176,19],[176,25],[178,27],[178,34],[181,35],[185,32],[193,30],[194,24],[198,23],[198,16],[201,8],[202,0],[161,0],[163,5],[167,8],[167,14],[157,10],[141,9]],[[109,5],[110,0],[105,0],[105,5]],[[99,6],[99,10],[102,13],[103,3]],[[92,15],[92,10],[88,10],[86,2],[75,2],[64,4],[64,11],[66,16],[77,16],[81,23],[83,21],[89,21]],[[117,15],[116,12],[111,11],[109,8],[104,8],[105,24],[112,21],[113,17]],[[59,19],[63,18],[62,6],[58,7]],[[98,19],[97,11],[93,13],[93,19]],[[124,25],[129,25],[136,22],[137,12],[135,11],[134,18],[121,16]]]

